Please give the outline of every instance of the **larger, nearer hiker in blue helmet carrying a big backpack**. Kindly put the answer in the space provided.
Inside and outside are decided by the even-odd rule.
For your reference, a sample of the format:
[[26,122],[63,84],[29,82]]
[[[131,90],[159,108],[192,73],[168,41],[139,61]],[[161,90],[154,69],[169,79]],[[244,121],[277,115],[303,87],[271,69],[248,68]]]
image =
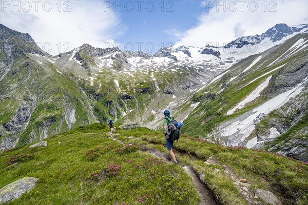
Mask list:
[[[172,147],[174,145],[174,139],[175,138],[171,138],[174,137],[175,135],[180,135],[180,131],[178,129],[178,123],[176,120],[174,120],[174,118],[170,117],[170,112],[168,110],[164,111],[164,115],[165,115],[165,119],[163,120],[163,125],[164,125],[164,129],[165,129],[165,139],[166,139],[166,146],[167,146],[167,150],[169,152],[169,155],[167,156],[168,160],[173,159],[175,163],[178,163],[176,156],[174,154],[174,152],[172,151]],[[172,122],[175,122],[175,124],[172,124]],[[176,133],[175,133],[176,132]]]

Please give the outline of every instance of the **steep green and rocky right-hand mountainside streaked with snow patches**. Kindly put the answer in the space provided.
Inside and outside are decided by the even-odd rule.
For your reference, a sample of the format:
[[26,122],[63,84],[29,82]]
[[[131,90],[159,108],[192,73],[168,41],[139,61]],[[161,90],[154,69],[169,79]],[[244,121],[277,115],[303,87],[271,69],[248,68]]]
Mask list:
[[184,133],[308,161],[307,46],[307,33],[298,34],[227,69],[191,100],[175,102],[179,119],[190,111]]

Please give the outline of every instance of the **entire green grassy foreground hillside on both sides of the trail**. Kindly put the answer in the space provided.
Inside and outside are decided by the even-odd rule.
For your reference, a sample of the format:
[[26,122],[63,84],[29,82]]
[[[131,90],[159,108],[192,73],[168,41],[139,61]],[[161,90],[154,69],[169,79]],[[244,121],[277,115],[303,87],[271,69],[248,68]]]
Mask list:
[[[11,156],[23,153],[34,156],[34,159],[2,170],[0,187],[25,176],[40,178],[29,194],[9,204],[136,204],[139,198],[147,200],[146,204],[198,204],[192,181],[180,167],[161,159],[153,160],[137,147],[121,146],[107,138],[107,130],[102,124],[79,127],[47,138],[47,147],[27,149],[26,146],[0,153],[0,156],[8,155],[0,158],[0,169],[7,167],[4,162]],[[118,133],[118,138],[125,144],[154,148],[167,154],[164,137],[159,132],[137,128],[119,130]],[[129,139],[128,136],[135,138]],[[236,174],[252,184],[254,190],[272,191],[276,186],[296,196],[298,204],[308,202],[306,163],[257,150],[224,148],[185,135],[175,143],[175,149],[186,153],[177,157],[198,173],[205,174],[207,184],[225,204],[247,202],[223,171],[214,171],[215,168],[223,170],[222,165],[232,166]],[[196,158],[191,158],[191,155]],[[221,165],[206,165],[204,161],[209,156],[217,158]],[[101,175],[100,171],[112,164],[122,166],[121,174],[114,177],[105,175],[101,181],[90,177],[89,173]],[[290,197],[283,194],[285,198]]]

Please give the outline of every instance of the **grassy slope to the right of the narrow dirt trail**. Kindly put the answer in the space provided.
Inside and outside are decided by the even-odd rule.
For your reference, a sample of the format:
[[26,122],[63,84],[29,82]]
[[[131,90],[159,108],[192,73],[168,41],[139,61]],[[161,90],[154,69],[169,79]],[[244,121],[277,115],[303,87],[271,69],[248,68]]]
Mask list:
[[[159,132],[140,128],[122,131],[120,136],[123,136],[120,138],[127,143],[131,142],[166,152],[164,137]],[[143,140],[129,139],[125,136],[136,136]],[[179,156],[180,161],[190,164],[198,173],[205,174],[207,184],[225,204],[247,204],[247,202],[243,200],[233,181],[223,173],[222,165],[232,166],[236,174],[246,178],[252,184],[253,190],[261,188],[272,191],[276,187],[285,197],[284,203],[295,200],[295,198],[298,204],[308,202],[307,163],[259,150],[225,148],[185,135],[181,135],[180,140],[175,142],[175,149],[186,153]],[[193,158],[189,157],[191,154],[197,159],[192,160]],[[218,159],[221,165],[206,165],[204,161],[210,156]],[[215,172],[215,168],[222,172]],[[294,196],[296,197],[292,198]]]

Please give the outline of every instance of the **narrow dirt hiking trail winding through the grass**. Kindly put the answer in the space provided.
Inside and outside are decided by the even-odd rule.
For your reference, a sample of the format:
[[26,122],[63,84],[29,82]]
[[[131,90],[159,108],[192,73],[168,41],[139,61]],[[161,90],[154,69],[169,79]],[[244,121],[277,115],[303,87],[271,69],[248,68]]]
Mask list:
[[[118,142],[120,142],[121,144],[124,145],[124,142],[119,140],[117,137],[119,134],[110,134],[110,138],[113,140],[116,140]],[[139,138],[136,138],[138,140],[141,140]],[[174,163],[172,161],[169,160],[165,160],[166,159],[166,154],[163,152],[160,152],[158,150],[155,149],[147,149],[144,150],[145,152],[151,154],[153,157],[157,157],[157,158],[162,158],[164,159],[164,161],[166,161],[167,163]],[[206,188],[206,186],[204,185],[204,183],[199,179],[199,177],[196,175],[196,173],[194,172],[194,170],[191,168],[191,166],[187,166],[184,165],[183,163],[179,162],[179,166],[181,166],[184,171],[191,177],[192,181],[194,182],[194,186],[201,198],[201,202],[200,205],[216,205],[217,202],[215,201],[215,199],[213,198],[213,195],[211,194],[210,190],[208,190]]]

